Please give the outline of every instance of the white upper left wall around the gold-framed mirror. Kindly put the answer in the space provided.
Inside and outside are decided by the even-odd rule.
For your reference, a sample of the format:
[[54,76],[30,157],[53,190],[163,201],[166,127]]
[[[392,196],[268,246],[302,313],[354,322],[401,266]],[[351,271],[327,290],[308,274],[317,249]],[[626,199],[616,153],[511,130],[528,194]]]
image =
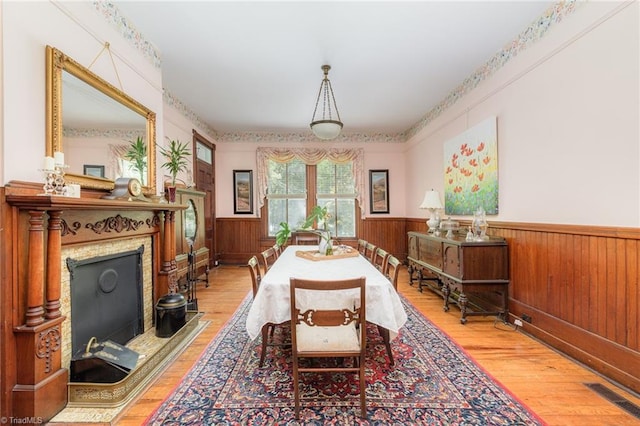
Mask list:
[[[2,175],[10,180],[43,181],[45,156],[45,47],[75,61],[156,113],[162,123],[162,82],[156,68],[125,40],[92,2],[2,2]],[[110,43],[114,65],[108,52]],[[97,58],[97,59],[96,59]],[[117,74],[116,74],[117,70]],[[64,94],[63,94],[64,96]],[[64,120],[64,118],[63,118]],[[162,126],[156,137],[162,138]],[[161,173],[158,173],[161,175]],[[158,185],[156,183],[156,185]]]

